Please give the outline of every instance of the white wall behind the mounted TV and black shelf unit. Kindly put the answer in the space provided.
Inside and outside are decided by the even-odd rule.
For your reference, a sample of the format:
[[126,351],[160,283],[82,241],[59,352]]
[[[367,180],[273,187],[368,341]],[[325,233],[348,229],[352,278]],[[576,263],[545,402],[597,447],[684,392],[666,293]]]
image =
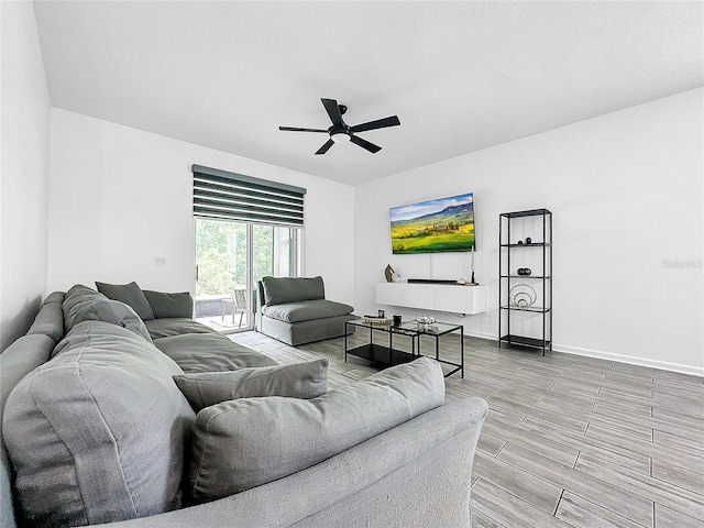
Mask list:
[[704,374],[702,103],[696,89],[356,187],[355,307],[376,310],[389,263],[404,278],[468,275],[466,254],[392,255],[388,208],[473,191],[490,311],[438,319],[496,338],[498,215],[544,207],[554,349]]

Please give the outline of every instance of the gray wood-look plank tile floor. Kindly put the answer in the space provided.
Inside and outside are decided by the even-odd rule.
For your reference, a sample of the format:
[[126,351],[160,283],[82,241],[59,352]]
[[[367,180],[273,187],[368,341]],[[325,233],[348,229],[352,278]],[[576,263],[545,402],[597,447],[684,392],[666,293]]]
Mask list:
[[[231,339],[282,363],[329,358],[330,388],[378,371],[345,362],[342,338],[298,348],[256,332]],[[459,343],[441,338],[441,356],[459,361]],[[704,528],[704,377],[475,338],[464,339],[464,380],[446,380],[447,400],[490,405],[474,459],[475,528]]]

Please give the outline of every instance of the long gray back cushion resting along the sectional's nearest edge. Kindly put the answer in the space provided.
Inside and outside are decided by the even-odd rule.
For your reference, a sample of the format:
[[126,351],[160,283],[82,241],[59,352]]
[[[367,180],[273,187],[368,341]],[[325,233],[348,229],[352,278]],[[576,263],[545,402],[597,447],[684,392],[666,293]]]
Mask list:
[[443,399],[439,363],[421,358],[315,399],[242,398],[206,407],[193,425],[191,493],[212,501],[301,471]]

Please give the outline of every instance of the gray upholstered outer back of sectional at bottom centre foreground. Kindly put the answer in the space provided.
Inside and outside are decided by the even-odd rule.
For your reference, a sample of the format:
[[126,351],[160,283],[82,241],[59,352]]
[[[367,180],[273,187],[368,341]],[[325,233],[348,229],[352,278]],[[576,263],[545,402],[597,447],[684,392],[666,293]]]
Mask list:
[[278,481],[100,526],[469,526],[472,462],[486,413],[483,399],[461,399]]

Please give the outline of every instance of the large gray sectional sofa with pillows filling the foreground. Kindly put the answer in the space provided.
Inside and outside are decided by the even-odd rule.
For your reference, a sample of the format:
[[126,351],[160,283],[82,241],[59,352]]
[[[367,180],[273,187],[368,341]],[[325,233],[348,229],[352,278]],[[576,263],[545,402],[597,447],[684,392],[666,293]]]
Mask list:
[[130,292],[52,294],[0,354],[3,528],[470,526],[487,406],[443,405],[433,360],[327,392],[327,360],[277,365],[187,295]]

